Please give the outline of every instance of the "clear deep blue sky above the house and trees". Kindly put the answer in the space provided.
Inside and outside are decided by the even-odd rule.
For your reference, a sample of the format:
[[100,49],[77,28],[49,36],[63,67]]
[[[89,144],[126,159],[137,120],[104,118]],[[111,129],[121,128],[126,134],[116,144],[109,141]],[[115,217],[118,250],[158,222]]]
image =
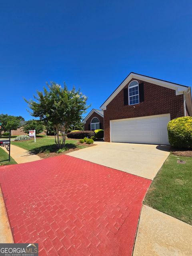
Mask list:
[[1,1],[0,113],[74,85],[99,108],[130,72],[191,86],[192,1]]

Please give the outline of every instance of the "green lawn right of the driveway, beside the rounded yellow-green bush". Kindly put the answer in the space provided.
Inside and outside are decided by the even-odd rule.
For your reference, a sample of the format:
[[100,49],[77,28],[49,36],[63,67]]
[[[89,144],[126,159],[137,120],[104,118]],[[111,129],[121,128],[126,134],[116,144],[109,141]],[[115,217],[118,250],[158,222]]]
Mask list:
[[[178,158],[186,164],[178,164]],[[170,154],[154,178],[144,204],[192,224],[192,157]]]

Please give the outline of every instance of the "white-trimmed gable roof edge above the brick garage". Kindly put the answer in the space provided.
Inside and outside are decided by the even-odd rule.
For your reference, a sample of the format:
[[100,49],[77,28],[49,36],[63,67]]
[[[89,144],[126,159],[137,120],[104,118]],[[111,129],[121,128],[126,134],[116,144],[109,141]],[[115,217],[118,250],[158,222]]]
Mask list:
[[166,88],[170,88],[170,89],[176,91],[176,95],[183,94],[184,91],[188,90],[188,86],[185,86],[185,85],[176,84],[176,83],[168,82],[166,80],[161,80],[161,79],[158,79],[158,78],[154,78],[154,77],[150,77],[150,76],[144,76],[144,75],[141,75],[141,74],[131,72],[123,80],[123,82],[116,88],[116,90],[114,90],[114,92],[112,92],[112,94],[106,99],[106,101],[100,106],[100,108],[102,110],[105,110],[106,106],[109,104],[109,102],[124,88],[124,86],[126,86],[126,84],[128,84],[128,82],[132,78],[142,80],[142,81],[145,81],[145,82],[149,82],[151,84],[156,84],[156,85],[159,85],[159,86],[163,86],[163,87],[166,87]]

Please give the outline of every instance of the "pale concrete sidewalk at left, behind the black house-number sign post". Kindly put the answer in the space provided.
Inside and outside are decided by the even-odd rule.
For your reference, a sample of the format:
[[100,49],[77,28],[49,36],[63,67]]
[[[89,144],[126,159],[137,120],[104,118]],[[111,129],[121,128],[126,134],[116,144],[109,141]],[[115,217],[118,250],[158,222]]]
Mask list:
[[[8,153],[5,147],[1,147],[1,148]],[[39,156],[27,151],[26,149],[20,148],[18,146],[14,146],[12,144],[11,144],[11,157],[18,164],[28,163],[28,162],[42,159]]]

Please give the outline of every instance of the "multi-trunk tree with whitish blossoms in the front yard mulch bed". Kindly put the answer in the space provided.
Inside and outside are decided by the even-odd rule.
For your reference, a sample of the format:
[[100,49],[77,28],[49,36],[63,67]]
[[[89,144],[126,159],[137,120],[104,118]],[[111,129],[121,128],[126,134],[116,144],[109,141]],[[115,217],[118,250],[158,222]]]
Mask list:
[[[51,124],[54,130],[55,143],[58,148],[65,145],[66,133],[69,127],[82,119],[89,108],[86,105],[87,97],[80,90],[75,88],[68,90],[66,84],[64,87],[55,82],[46,84],[48,89],[44,87],[43,92],[37,91],[35,100],[24,99],[31,111],[28,112],[39,117],[46,124]],[[59,136],[61,131],[61,136]]]

